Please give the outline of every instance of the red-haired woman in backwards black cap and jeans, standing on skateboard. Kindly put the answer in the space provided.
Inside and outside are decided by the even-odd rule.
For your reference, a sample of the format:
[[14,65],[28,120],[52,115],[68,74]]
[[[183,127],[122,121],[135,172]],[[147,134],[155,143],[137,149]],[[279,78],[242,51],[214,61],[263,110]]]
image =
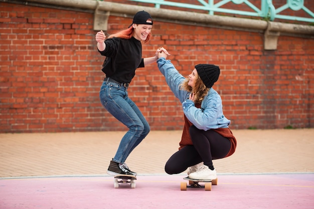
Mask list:
[[[142,45],[149,40],[152,18],[146,11],[139,11],[132,24],[125,30],[106,35],[101,30],[96,34],[97,48],[106,56],[102,71],[106,74],[100,87],[101,104],[129,130],[122,137],[116,154],[110,161],[110,175],[136,175],[125,163],[131,151],[148,134],[150,127],[136,104],[128,97],[127,88],[138,67],[155,62],[155,56],[142,58]],[[158,51],[167,50],[162,48]]]

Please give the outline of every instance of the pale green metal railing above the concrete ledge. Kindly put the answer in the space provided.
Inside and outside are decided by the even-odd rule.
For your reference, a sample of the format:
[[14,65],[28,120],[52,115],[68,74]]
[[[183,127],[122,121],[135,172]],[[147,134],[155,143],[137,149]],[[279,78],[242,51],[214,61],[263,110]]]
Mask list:
[[[269,19],[271,21],[273,21],[275,18],[278,18],[278,19],[287,19],[287,20],[314,23],[314,13],[304,6],[304,0],[287,0],[286,3],[280,6],[279,8],[274,7],[274,5],[272,4],[272,0],[261,0],[261,8],[256,7],[253,3],[250,2],[250,0],[221,0],[217,3],[214,3],[214,0],[208,0],[208,2],[206,2],[205,0],[195,0],[199,2],[199,5],[191,4],[191,3],[174,2],[171,0],[130,0],[130,1],[153,3],[155,4],[156,8],[160,8],[161,5],[167,5],[167,6],[206,10],[206,11],[209,11],[209,14],[211,15],[213,15],[214,12],[223,12],[223,13],[232,13],[232,14],[240,14],[240,15],[247,15],[247,16],[257,16],[257,17]],[[314,0],[310,0],[310,1],[313,1],[314,3]],[[229,2],[233,2],[235,4],[245,3],[252,9],[252,11],[235,10],[235,9],[228,9],[228,8],[221,7]],[[302,17],[302,16],[289,16],[289,15],[279,14],[280,12],[288,8],[295,11],[302,9],[311,17],[308,18],[308,17]]]

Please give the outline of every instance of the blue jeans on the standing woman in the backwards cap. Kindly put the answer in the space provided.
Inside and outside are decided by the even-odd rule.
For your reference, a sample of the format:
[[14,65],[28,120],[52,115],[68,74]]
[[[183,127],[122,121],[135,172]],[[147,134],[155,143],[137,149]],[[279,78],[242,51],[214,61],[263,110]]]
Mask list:
[[150,127],[136,104],[128,97],[127,87],[103,81],[99,98],[101,104],[129,130],[122,137],[113,161],[125,162],[131,151],[143,140]]

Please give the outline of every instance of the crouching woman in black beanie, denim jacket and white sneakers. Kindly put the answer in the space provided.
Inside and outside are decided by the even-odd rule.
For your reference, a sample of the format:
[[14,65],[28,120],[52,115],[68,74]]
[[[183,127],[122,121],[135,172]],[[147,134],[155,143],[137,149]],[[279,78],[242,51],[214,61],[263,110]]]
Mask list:
[[221,97],[212,88],[220,69],[214,64],[197,64],[185,78],[166,60],[166,53],[156,53],[160,71],[182,103],[185,120],[179,151],[169,158],[165,171],[175,174],[190,167],[190,178],[216,179],[212,160],[230,156],[237,144],[228,126],[230,120],[223,114]]

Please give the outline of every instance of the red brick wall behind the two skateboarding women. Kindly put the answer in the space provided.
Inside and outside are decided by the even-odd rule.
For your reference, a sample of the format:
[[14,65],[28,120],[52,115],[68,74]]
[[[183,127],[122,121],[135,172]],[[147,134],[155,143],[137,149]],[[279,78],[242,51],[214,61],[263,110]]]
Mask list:
[[[0,2],[0,132],[124,130],[100,104],[104,74],[93,14]],[[131,19],[110,16],[109,33]],[[188,75],[198,63],[221,68],[214,88],[231,128],[314,127],[314,39],[154,21],[143,56],[166,47]],[[129,96],[152,130],[181,129],[181,104],[156,64],[136,70]]]

